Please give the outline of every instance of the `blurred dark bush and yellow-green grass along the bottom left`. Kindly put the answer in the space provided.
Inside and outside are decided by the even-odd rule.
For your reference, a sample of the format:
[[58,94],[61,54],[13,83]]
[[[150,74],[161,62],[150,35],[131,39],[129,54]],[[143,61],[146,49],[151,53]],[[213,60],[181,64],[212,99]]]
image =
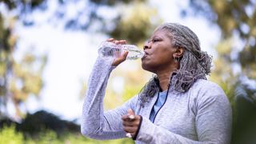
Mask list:
[[19,143],[134,143],[130,138],[98,141],[82,136],[80,126],[44,110],[28,114],[22,122],[0,120],[0,144]]

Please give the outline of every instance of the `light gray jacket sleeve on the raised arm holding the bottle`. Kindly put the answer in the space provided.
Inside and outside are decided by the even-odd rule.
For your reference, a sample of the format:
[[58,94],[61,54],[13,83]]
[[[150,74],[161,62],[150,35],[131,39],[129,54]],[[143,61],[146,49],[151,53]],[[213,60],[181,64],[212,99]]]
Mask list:
[[131,98],[128,102],[115,110],[104,113],[103,98],[113,59],[97,58],[94,68],[90,74],[86,98],[82,106],[81,132],[83,135],[94,139],[124,138],[126,133],[122,130],[122,115],[129,108],[134,109]]

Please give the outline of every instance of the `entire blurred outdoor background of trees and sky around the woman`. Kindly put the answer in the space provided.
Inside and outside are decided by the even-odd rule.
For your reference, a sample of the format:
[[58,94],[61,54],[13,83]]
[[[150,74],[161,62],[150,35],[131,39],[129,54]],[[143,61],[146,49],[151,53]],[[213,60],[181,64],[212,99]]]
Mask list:
[[[143,46],[154,28],[178,22],[213,55],[209,79],[233,108],[231,143],[256,143],[255,0],[0,0],[0,143],[134,143],[80,134],[86,83],[106,38]],[[111,74],[105,110],[152,77],[140,60]]]

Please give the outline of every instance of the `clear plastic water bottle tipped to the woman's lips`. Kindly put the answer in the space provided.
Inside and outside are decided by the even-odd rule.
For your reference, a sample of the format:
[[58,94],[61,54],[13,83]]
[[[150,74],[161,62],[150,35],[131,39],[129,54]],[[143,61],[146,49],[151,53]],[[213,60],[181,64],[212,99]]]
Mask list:
[[118,58],[125,51],[129,51],[126,59],[138,59],[144,56],[144,51],[138,49],[134,45],[117,45],[113,42],[102,42],[102,45],[98,49],[98,54],[101,57]]

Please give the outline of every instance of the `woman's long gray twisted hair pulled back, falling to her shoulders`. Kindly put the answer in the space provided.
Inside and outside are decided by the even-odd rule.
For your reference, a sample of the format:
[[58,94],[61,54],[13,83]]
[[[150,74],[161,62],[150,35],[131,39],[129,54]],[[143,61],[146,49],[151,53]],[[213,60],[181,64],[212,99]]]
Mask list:
[[[190,89],[198,78],[206,79],[210,74],[212,57],[200,48],[200,42],[196,34],[186,26],[178,23],[165,23],[155,31],[166,30],[174,47],[184,48],[182,58],[179,58],[179,69],[173,72],[170,80],[170,90],[176,93],[184,93]],[[159,91],[158,77],[154,76],[142,88],[138,96],[143,103]]]

